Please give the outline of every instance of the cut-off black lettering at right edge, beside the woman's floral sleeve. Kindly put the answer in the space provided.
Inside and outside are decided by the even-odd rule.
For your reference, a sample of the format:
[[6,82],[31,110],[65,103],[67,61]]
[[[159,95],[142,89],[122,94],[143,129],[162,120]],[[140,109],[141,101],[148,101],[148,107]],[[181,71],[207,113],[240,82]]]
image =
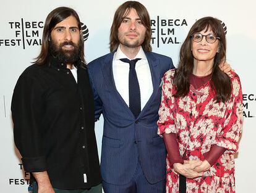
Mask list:
[[255,94],[243,94],[242,95],[242,105],[244,106],[243,115],[246,118],[254,118],[254,112],[252,112],[250,105],[256,102],[256,95]]

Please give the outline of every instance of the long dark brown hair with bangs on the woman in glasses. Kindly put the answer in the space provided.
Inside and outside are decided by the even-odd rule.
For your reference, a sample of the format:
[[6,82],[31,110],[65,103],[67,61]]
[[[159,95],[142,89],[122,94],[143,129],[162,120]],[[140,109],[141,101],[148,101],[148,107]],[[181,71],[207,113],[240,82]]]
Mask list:
[[181,46],[179,55],[179,65],[176,73],[174,74],[174,85],[176,86],[175,97],[184,97],[189,93],[189,78],[192,75],[194,68],[194,57],[191,51],[192,39],[194,33],[203,30],[211,29],[213,33],[220,37],[219,51],[216,53],[211,77],[211,88],[215,91],[215,98],[217,102],[226,102],[231,96],[231,80],[226,73],[224,73],[219,65],[226,60],[226,36],[221,25],[221,21],[213,17],[203,17],[191,27],[187,38]]

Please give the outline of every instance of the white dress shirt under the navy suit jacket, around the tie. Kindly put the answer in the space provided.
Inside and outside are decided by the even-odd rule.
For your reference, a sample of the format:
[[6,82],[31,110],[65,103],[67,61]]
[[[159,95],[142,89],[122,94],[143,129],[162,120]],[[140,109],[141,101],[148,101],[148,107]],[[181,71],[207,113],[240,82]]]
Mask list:
[[[126,102],[129,107],[129,68],[130,65],[126,62],[122,62],[120,59],[129,59],[124,52],[121,51],[120,46],[117,48],[116,53],[113,57],[113,76],[116,89],[121,95],[122,99]],[[134,59],[141,59],[135,65],[137,78],[140,86],[140,103],[141,110],[150,99],[153,93],[153,83],[151,79],[150,67],[148,65],[147,57],[140,47],[140,51],[134,57]],[[129,59],[131,60],[131,59]]]

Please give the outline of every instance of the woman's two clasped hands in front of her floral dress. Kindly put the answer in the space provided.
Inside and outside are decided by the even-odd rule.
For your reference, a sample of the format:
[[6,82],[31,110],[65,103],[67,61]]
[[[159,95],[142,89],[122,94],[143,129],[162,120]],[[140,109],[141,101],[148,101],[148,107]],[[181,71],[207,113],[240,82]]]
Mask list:
[[203,176],[203,172],[211,167],[207,160],[184,160],[184,163],[174,163],[173,168],[176,173],[185,176],[186,178],[197,178]]

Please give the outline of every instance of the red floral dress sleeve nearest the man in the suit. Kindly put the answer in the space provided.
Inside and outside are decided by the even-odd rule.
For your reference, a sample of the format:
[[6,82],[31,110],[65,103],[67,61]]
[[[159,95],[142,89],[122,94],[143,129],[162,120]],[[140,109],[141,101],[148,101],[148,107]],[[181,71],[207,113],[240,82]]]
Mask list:
[[157,122],[158,134],[160,136],[162,136],[164,133],[177,133],[173,119],[173,72],[173,70],[166,72],[162,80],[162,97],[160,109],[158,111],[159,120]]

